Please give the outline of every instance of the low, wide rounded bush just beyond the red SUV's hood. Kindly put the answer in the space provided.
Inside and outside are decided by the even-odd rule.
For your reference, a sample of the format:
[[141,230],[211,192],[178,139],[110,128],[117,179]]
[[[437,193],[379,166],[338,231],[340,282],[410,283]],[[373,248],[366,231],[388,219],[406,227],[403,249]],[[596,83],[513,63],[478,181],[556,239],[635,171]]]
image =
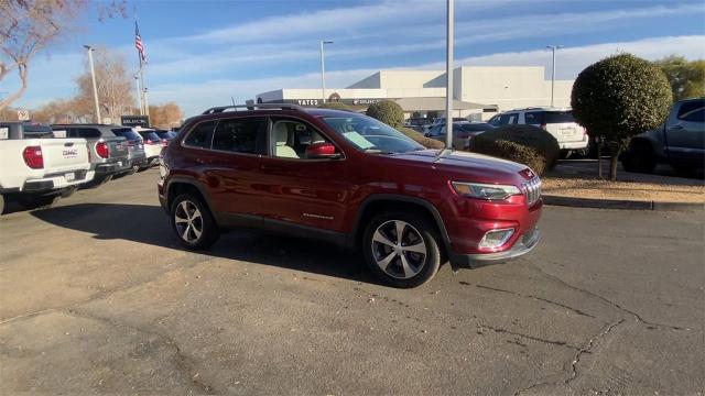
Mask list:
[[524,164],[539,175],[555,166],[561,152],[551,133],[520,124],[480,133],[473,138],[470,151]]

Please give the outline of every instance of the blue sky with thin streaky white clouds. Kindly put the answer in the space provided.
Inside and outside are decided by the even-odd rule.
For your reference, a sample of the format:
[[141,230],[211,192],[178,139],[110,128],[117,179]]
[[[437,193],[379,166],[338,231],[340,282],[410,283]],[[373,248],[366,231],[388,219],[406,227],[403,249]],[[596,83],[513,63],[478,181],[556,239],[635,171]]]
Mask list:
[[[444,68],[445,1],[131,1],[147,46],[150,102],[176,101],[186,116],[278,88],[319,86],[318,40],[327,86],[345,87],[383,68]],[[75,94],[83,44],[124,53],[137,67],[134,22],[83,19],[77,34],[40,54],[30,89],[15,103],[32,108]],[[456,0],[457,64],[549,65],[560,44],[560,79],[619,51],[646,58],[672,53],[705,57],[705,3],[699,1]],[[99,56],[99,53],[96,54]],[[0,91],[17,81],[1,82]]]

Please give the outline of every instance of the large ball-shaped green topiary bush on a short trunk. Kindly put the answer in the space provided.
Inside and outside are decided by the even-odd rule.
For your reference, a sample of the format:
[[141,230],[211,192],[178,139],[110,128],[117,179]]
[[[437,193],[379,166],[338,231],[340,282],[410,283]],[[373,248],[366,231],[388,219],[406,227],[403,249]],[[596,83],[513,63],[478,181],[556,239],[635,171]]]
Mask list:
[[571,94],[575,120],[593,136],[603,136],[611,154],[610,178],[617,178],[617,157],[631,136],[661,124],[673,95],[663,72],[630,54],[607,57],[577,76]]

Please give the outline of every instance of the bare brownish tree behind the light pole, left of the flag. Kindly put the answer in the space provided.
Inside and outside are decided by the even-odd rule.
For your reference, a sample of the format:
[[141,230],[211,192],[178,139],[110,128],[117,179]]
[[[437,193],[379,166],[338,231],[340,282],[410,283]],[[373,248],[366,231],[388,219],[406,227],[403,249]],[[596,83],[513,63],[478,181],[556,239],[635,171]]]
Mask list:
[[[100,112],[115,122],[120,116],[131,113],[134,107],[132,78],[128,73],[127,59],[121,53],[97,48],[94,61]],[[76,79],[76,82],[78,84],[78,95],[74,99],[76,112],[93,120],[95,118],[93,81],[87,65],[86,72]]]

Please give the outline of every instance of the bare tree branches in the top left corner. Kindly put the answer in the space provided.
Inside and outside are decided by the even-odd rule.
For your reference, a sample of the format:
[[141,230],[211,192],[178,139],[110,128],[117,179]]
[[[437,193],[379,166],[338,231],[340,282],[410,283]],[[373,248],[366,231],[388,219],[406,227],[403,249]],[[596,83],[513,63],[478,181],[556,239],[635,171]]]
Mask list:
[[[69,32],[88,9],[88,0],[1,0],[0,81],[18,73],[20,86],[0,100],[0,111],[18,100],[29,86],[34,56]],[[124,15],[124,1],[98,4],[100,19]]]

